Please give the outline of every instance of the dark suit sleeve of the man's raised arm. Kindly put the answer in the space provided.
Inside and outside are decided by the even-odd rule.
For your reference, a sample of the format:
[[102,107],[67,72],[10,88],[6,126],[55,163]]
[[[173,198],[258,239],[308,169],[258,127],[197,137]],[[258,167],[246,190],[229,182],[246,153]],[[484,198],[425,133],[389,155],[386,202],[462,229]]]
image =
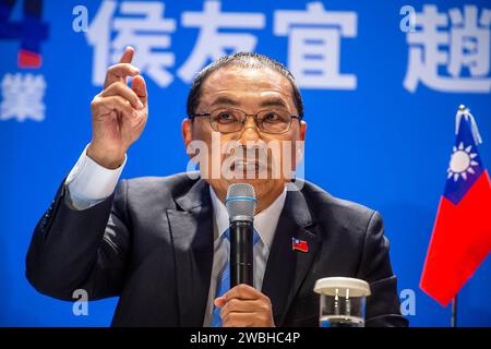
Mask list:
[[127,182],[91,208],[67,204],[61,184],[37,224],[26,256],[26,277],[39,292],[73,301],[76,289],[89,300],[119,296],[130,248]]

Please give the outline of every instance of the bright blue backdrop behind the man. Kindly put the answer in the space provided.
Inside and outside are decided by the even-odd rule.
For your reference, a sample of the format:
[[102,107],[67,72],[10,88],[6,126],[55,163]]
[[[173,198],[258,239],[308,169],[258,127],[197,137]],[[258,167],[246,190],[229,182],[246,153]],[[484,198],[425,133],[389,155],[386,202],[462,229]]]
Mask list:
[[[406,4],[416,22],[411,10],[406,20],[399,13]],[[91,140],[98,71],[127,44],[136,44],[149,119],[123,178],[185,169],[180,123],[189,76],[211,57],[238,48],[268,55],[301,85],[304,177],[382,213],[399,291],[416,294],[411,325],[450,325],[450,306],[418,286],[458,105],[475,115],[480,155],[491,166],[489,1],[25,0],[0,1],[0,325],[110,323],[116,299],[75,316],[72,303],[28,285],[24,260],[37,220]],[[491,325],[490,275],[488,258],[459,293],[460,325]]]

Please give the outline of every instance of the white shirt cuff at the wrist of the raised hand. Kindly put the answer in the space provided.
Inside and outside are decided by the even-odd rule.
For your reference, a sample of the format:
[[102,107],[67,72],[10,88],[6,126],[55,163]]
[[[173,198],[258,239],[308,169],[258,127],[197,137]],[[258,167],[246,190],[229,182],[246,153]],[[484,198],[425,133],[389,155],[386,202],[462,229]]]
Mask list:
[[89,208],[109,197],[127,164],[124,155],[124,161],[120,167],[105,168],[87,156],[87,147],[88,145],[64,181],[70,204],[75,209]]

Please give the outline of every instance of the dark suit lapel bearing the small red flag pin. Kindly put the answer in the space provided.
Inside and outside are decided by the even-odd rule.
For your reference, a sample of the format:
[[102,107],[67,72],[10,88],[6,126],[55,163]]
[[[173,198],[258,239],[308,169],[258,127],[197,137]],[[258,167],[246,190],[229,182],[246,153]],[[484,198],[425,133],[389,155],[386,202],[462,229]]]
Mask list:
[[[280,326],[315,257],[320,239],[300,191],[288,191],[279,216],[264,274],[262,292],[273,303],[275,324]],[[292,238],[307,242],[308,252],[292,249]]]

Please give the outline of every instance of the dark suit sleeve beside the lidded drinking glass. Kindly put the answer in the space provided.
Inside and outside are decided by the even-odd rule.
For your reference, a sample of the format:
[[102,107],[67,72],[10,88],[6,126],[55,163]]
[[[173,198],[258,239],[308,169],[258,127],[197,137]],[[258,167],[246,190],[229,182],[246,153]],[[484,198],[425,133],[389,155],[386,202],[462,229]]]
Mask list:
[[370,282],[371,296],[367,299],[366,325],[407,326],[400,315],[397,278],[393,274],[388,240],[379,213],[373,213],[367,227],[363,253],[358,277]]

